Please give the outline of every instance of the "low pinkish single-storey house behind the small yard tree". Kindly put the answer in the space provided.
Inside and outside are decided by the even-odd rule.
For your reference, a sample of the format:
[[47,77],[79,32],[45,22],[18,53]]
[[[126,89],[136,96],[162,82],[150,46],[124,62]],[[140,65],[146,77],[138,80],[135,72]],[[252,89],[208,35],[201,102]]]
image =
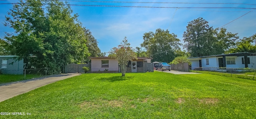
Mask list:
[[[116,71],[119,72],[118,60],[111,57],[90,57],[91,59],[91,71]],[[146,64],[151,63],[150,58],[138,57],[128,62],[127,72],[144,72],[147,70]],[[153,69],[152,69],[153,70]]]

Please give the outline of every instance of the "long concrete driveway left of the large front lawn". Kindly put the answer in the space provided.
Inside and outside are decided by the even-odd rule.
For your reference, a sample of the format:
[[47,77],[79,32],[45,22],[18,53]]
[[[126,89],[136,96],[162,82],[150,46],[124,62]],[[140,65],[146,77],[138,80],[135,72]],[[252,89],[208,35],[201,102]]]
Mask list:
[[34,78],[29,80],[22,80],[17,82],[11,82],[6,84],[0,84],[0,102],[6,99],[12,98],[14,96],[18,96],[20,94],[24,94],[41,86],[45,86],[47,84],[64,80],[66,78],[70,78],[73,76],[78,76],[80,73],[72,73],[72,74],[60,74],[60,75],[52,75],[42,78]]

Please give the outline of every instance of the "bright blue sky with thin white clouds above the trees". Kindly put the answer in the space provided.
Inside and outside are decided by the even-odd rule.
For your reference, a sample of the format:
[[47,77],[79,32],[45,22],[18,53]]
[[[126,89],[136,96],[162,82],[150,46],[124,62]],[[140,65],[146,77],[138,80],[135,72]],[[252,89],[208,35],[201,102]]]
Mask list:
[[[0,0],[0,3],[13,3],[17,0]],[[90,29],[92,35],[98,40],[98,47],[102,52],[108,52],[117,47],[124,37],[127,37],[133,48],[140,47],[143,34],[155,31],[158,28],[169,29],[176,34],[181,43],[183,33],[189,21],[198,17],[208,21],[214,28],[220,27],[252,9],[233,8],[180,8],[180,7],[239,7],[255,8],[256,0],[99,0],[99,1],[129,1],[129,2],[196,2],[196,3],[243,3],[243,4],[158,4],[158,3],[106,3],[106,2],[72,2],[80,5],[110,5],[110,6],[154,6],[174,8],[122,8],[122,7],[96,7],[96,6],[71,6],[74,13],[78,13],[83,26]],[[86,0],[80,0],[86,1]],[[88,1],[88,0],[87,0]],[[255,5],[245,5],[255,4]],[[178,8],[177,8],[178,7]],[[14,30],[4,27],[4,16],[12,5],[0,4],[0,38],[5,32]],[[224,26],[228,32],[238,33],[240,38],[250,37],[256,33],[256,10],[242,18]]]

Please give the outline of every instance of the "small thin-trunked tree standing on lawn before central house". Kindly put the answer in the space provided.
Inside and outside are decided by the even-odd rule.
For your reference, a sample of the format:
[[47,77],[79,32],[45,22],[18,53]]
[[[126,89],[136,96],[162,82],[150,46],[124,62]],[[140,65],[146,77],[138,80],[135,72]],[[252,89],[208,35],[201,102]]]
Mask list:
[[122,76],[125,76],[128,62],[132,59],[136,59],[136,53],[132,50],[132,47],[130,47],[130,43],[128,43],[126,37],[124,37],[124,40],[118,47],[111,49],[109,56],[118,60]]

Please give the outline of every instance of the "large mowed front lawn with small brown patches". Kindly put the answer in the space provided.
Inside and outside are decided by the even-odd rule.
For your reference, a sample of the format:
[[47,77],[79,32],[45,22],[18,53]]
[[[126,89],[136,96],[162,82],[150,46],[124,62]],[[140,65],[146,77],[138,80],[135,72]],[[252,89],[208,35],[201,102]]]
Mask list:
[[0,118],[255,119],[256,81],[164,72],[82,74],[0,102]]

